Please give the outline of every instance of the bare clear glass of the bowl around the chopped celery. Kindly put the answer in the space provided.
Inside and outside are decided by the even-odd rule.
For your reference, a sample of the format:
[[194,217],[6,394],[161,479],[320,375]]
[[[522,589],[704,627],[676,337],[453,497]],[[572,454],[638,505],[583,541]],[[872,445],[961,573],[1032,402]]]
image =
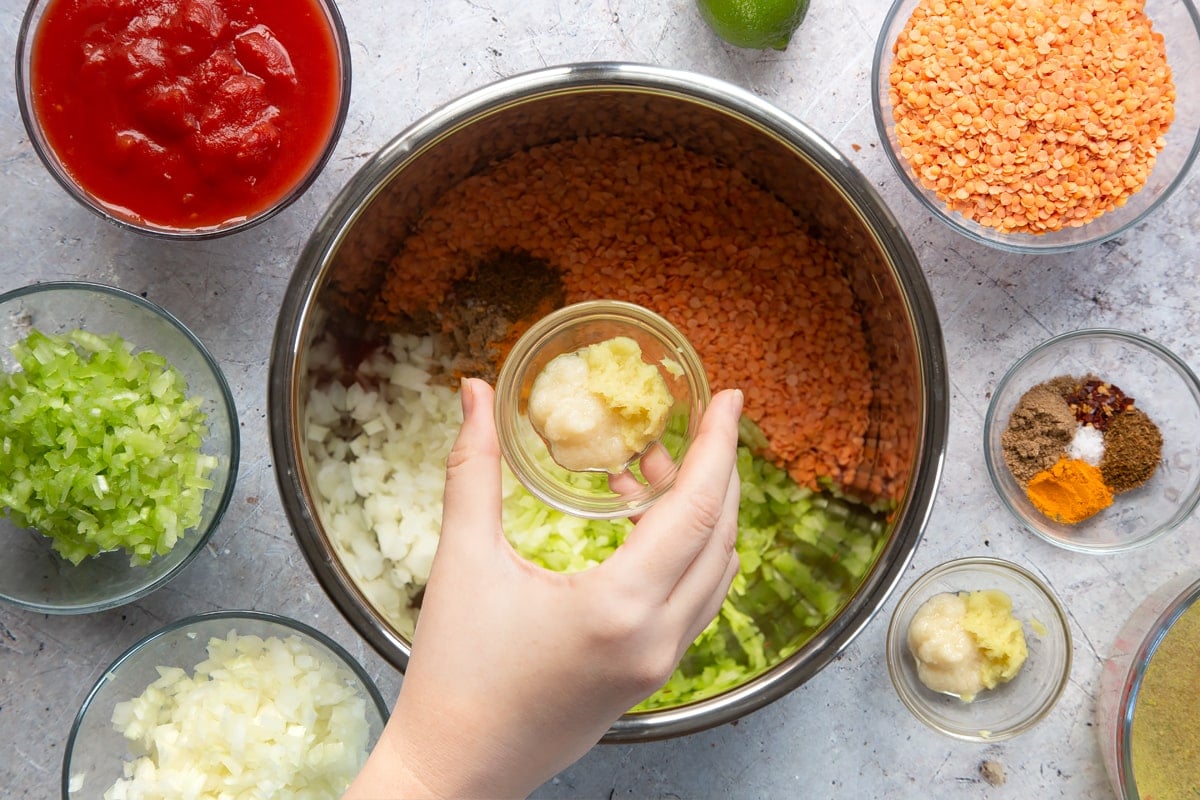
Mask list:
[[144,597],[187,566],[212,536],[233,497],[240,437],[238,411],[224,374],[204,344],[157,305],[114,287],[61,282],[24,287],[0,295],[0,369],[17,365],[11,348],[31,327],[43,333],[83,329],[118,333],[133,350],[150,349],[170,361],[187,380],[188,396],[203,398],[208,437],[200,451],[216,456],[212,488],[204,495],[199,524],[166,555],[132,566],[124,551],[101,553],[71,564],[50,548],[50,540],[18,528],[0,516],[0,600],[43,614],[84,614]]

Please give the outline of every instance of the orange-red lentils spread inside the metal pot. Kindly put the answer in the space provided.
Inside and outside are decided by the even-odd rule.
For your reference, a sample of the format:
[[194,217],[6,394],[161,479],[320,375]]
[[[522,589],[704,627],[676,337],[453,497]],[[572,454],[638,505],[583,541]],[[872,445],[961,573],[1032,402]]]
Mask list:
[[[769,456],[802,486],[845,486],[864,459],[872,377],[841,265],[778,198],[667,143],[596,137],[533,148],[444,193],[392,260],[372,317],[436,312],[470,264],[522,251],[565,301],[625,300],[691,341],[713,390],[740,387]],[[904,488],[902,455],[881,449]]]

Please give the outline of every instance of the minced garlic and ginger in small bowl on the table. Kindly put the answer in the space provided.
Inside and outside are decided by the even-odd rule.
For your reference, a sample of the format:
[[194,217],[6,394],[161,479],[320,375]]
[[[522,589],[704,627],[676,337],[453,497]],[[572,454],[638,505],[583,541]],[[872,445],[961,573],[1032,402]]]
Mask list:
[[934,595],[917,610],[907,638],[920,682],[966,703],[1010,681],[1028,656],[1013,601],[998,589]]

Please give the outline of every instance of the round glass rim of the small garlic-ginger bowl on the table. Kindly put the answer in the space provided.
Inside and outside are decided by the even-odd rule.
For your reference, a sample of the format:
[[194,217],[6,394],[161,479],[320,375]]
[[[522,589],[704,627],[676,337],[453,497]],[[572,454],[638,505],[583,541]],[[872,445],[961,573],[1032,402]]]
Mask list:
[[[1026,718],[1020,723],[1014,724],[1003,730],[989,730],[986,735],[982,733],[968,733],[965,730],[956,730],[948,728],[938,723],[925,709],[913,699],[913,693],[908,691],[906,681],[904,681],[900,675],[900,660],[904,658],[905,648],[901,644],[901,632],[899,631],[900,612],[907,609],[908,606],[916,603],[918,591],[929,587],[937,578],[955,575],[958,572],[964,572],[972,569],[986,569],[995,570],[996,572],[1007,573],[1019,583],[1025,583],[1028,585],[1034,594],[1040,595],[1050,608],[1054,610],[1057,625],[1046,625],[1045,620],[1042,624],[1046,627],[1048,634],[1055,631],[1062,632],[1063,642],[1063,664],[1062,673],[1058,675],[1058,680],[1042,703],[1039,708],[1033,710]],[[1056,637],[1057,638],[1057,637]],[[884,657],[888,664],[888,676],[892,679],[892,686],[895,690],[896,697],[900,699],[901,704],[908,709],[908,711],[925,723],[934,730],[954,739],[962,741],[974,741],[974,742],[997,742],[1012,739],[1026,730],[1033,728],[1037,723],[1044,720],[1058,704],[1058,699],[1062,697],[1063,691],[1070,682],[1070,670],[1072,670],[1072,649],[1073,649],[1073,637],[1070,634],[1070,618],[1067,614],[1066,607],[1058,600],[1058,596],[1050,589],[1045,581],[1034,575],[1031,570],[1016,564],[1015,561],[1009,561],[1007,559],[1001,559],[991,555],[968,555],[964,558],[950,559],[948,561],[942,561],[924,573],[922,573],[912,584],[905,589],[904,594],[900,595],[900,600],[896,602],[895,608],[892,610],[892,618],[888,620],[888,631],[886,640],[886,654]]]

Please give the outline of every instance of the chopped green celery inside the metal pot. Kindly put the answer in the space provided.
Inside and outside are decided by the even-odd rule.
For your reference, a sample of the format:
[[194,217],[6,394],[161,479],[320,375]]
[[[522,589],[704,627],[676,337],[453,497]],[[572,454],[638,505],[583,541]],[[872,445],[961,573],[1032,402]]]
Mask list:
[[[635,710],[712,697],[804,645],[850,600],[886,541],[882,515],[798,486],[754,455],[766,439],[743,417],[738,447],[740,572],[716,619],[666,685]],[[572,481],[605,481],[575,474]],[[557,571],[594,566],[624,541],[630,523],[583,521],[550,509],[510,480],[504,528],[529,560]]]

